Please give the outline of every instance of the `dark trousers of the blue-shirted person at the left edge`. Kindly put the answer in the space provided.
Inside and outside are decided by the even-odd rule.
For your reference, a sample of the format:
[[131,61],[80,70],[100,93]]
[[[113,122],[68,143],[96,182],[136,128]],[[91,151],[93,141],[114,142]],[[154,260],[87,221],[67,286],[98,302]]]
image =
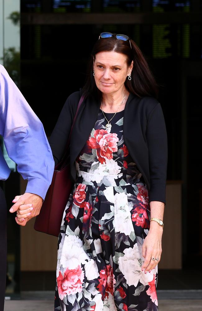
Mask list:
[[0,187],[0,310],[4,309],[6,288],[6,262],[7,262],[7,207],[6,199]]

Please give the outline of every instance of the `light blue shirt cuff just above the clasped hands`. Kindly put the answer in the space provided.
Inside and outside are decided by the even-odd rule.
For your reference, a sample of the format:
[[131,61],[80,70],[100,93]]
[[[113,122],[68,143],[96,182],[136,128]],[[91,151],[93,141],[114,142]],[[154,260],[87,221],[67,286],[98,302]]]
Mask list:
[[43,180],[33,178],[28,181],[25,192],[37,194],[44,200],[49,186],[50,184],[44,182]]

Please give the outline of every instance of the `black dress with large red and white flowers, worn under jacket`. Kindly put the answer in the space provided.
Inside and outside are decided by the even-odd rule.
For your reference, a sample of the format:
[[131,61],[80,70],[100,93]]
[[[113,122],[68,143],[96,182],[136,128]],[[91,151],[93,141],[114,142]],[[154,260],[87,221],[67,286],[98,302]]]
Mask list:
[[106,130],[100,109],[76,159],[58,239],[55,311],[158,310],[157,267],[141,270],[148,190],[124,144],[123,115]]

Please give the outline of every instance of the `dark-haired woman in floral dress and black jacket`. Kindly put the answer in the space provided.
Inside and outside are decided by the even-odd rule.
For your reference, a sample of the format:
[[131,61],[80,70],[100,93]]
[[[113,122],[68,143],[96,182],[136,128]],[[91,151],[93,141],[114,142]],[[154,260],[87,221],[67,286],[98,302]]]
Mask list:
[[158,310],[167,136],[155,80],[135,42],[100,35],[86,84],[69,96],[50,137],[55,164],[81,94],[55,310]]

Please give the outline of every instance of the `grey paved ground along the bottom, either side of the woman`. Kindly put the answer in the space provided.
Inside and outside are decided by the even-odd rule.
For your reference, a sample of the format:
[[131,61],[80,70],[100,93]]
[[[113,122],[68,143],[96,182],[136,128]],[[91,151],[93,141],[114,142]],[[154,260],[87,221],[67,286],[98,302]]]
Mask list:
[[[202,300],[159,300],[159,311],[200,311]],[[53,302],[44,300],[5,301],[4,311],[53,311]]]

